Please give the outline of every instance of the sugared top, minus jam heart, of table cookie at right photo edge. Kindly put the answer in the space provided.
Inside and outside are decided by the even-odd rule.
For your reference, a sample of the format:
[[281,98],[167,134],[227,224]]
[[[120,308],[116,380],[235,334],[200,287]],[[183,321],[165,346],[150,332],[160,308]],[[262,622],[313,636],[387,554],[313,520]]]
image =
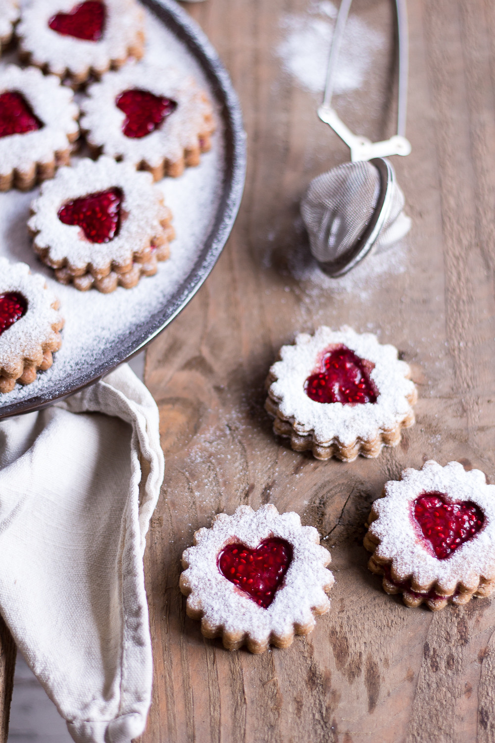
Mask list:
[[[433,492],[444,493],[447,503],[476,503],[485,516],[481,531],[446,559],[432,554],[413,519],[416,498]],[[428,588],[438,583],[440,593],[452,594],[459,583],[476,588],[480,576],[495,577],[495,485],[488,485],[480,470],[430,460],[421,470],[404,470],[400,481],[387,482],[385,493],[373,504],[378,519],[370,533],[380,540],[375,554],[393,562],[400,581],[413,577]]]

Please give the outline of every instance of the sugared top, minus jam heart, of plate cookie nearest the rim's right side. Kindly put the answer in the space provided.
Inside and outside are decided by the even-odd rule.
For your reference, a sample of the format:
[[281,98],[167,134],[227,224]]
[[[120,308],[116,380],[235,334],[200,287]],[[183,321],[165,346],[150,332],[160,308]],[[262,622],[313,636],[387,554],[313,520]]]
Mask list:
[[[177,108],[154,132],[140,138],[126,137],[122,132],[126,116],[116,106],[117,97],[133,89],[177,103]],[[197,147],[198,135],[204,132],[205,116],[212,113],[212,106],[191,76],[171,67],[129,62],[91,85],[82,112],[82,129],[88,132],[91,144],[103,147],[105,155],[124,158],[134,165],[145,160],[155,167],[165,158],[176,162],[183,157],[184,149]]]

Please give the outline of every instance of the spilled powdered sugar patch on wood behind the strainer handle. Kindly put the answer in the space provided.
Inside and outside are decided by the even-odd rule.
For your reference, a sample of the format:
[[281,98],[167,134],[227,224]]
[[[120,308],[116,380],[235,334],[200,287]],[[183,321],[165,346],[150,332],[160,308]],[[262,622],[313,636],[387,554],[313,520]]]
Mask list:
[[[283,41],[276,51],[283,68],[312,93],[323,91],[337,10],[329,0],[309,6],[305,15],[288,15],[281,22]],[[373,54],[383,45],[380,33],[351,15],[347,19],[335,75],[335,93],[363,85]]]

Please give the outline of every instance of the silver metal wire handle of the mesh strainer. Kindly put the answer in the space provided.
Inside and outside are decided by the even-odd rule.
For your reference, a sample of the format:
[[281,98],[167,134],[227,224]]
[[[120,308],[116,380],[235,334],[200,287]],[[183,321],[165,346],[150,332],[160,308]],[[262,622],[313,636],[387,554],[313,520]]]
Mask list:
[[329,124],[334,132],[350,147],[351,160],[371,160],[384,158],[387,155],[409,155],[411,146],[405,137],[407,117],[407,79],[409,77],[409,43],[407,33],[406,0],[396,0],[397,28],[399,33],[399,100],[397,105],[397,134],[383,142],[371,142],[367,137],[357,137],[338,117],[332,108],[332,95],[335,86],[335,71],[340,56],[344,28],[347,23],[350,6],[353,0],[342,0],[338,9],[337,21],[333,32],[332,47],[327,67],[327,80],[323,103],[318,108],[318,116]]

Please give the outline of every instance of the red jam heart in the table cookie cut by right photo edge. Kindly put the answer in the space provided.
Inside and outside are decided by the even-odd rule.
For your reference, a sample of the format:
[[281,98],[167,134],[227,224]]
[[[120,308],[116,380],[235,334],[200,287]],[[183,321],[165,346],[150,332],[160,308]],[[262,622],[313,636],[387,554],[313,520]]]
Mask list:
[[438,559],[445,559],[473,539],[485,521],[479,506],[471,501],[446,502],[445,493],[423,493],[413,504],[413,514],[422,535]]

